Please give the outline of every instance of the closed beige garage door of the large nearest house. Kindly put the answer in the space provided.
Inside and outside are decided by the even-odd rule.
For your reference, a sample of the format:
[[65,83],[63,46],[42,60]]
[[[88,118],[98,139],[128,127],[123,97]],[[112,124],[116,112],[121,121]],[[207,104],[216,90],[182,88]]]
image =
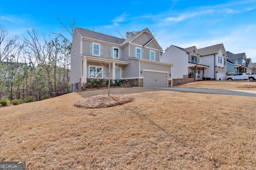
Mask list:
[[144,71],[144,87],[168,87],[168,73]]

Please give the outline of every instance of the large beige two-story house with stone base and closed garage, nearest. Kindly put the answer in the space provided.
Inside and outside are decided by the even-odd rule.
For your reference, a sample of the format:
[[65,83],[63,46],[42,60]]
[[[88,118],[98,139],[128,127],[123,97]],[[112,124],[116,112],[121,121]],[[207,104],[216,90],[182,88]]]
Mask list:
[[70,83],[86,86],[87,80],[123,80],[123,86],[172,86],[170,63],[161,63],[162,48],[148,28],[121,39],[75,27]]

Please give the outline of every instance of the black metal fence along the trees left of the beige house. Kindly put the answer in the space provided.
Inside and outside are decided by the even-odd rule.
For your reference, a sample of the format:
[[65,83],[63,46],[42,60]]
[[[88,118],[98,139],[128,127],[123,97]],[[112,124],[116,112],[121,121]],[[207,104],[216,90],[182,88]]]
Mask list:
[[21,99],[24,100],[28,96],[33,97],[33,101],[40,101],[47,98],[54,98],[57,96],[61,96],[64,94],[68,94],[71,92],[75,92],[76,90],[79,90],[79,83],[71,84],[68,87],[57,89],[56,92],[51,91],[44,91],[44,92],[0,92],[0,100],[1,99],[9,99],[9,100],[15,100],[15,99]]

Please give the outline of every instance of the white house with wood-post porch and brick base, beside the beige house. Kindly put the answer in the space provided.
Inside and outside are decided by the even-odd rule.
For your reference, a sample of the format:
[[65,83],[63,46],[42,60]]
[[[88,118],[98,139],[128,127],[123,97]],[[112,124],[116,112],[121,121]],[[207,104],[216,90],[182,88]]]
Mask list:
[[173,86],[202,80],[204,71],[210,67],[202,64],[196,46],[184,49],[171,45],[160,57],[160,61],[174,64],[172,67]]

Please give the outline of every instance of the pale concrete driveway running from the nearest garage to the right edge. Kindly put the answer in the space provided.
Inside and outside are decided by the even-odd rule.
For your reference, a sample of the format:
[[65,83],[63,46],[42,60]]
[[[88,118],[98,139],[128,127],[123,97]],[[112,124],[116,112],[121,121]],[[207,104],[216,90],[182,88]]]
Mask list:
[[256,90],[224,90],[224,89],[208,89],[208,88],[178,88],[178,87],[159,87],[160,89],[198,92],[198,93],[212,93],[212,94],[229,94],[235,96],[256,97]]

